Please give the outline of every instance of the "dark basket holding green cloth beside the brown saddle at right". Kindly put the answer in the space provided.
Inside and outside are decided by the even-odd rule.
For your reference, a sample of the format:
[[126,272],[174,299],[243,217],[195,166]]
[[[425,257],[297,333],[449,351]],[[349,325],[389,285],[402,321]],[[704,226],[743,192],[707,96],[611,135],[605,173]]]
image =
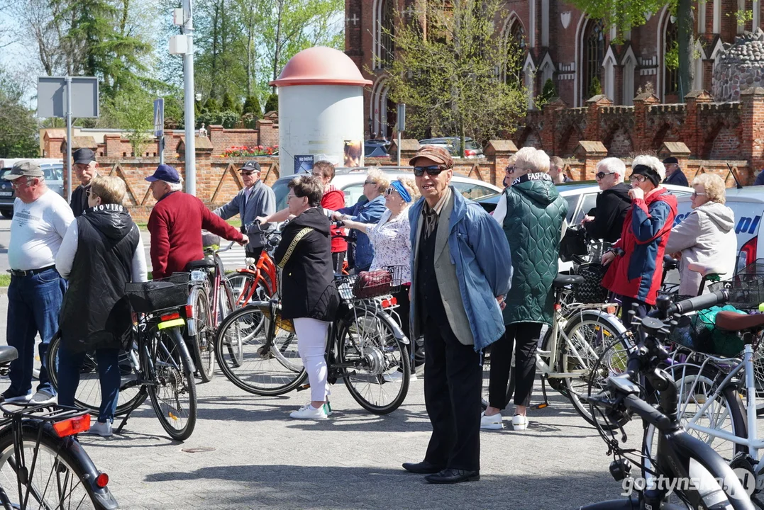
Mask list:
[[743,338],[735,332],[718,329],[715,325],[716,314],[721,311],[735,311],[734,306],[711,306],[691,316],[682,316],[669,340],[683,345],[693,351],[704,352],[714,356],[733,357],[743,351]]

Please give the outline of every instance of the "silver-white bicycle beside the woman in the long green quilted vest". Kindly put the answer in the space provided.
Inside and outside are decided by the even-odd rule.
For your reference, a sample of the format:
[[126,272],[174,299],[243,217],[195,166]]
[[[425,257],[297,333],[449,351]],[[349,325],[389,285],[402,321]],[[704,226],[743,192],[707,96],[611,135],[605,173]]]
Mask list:
[[[616,316],[604,310],[611,306],[610,304],[563,304],[563,298],[571,293],[575,285],[583,281],[584,278],[578,274],[561,273],[552,283],[555,293],[552,327],[539,339],[539,350],[536,351],[536,370],[542,375],[544,401],[531,406],[531,409],[549,406],[545,386],[549,382],[549,386],[571,401],[581,417],[594,424],[594,417],[588,412],[588,406],[581,401],[581,396],[587,393],[589,381],[592,377],[597,377],[592,371],[594,362],[615,339],[619,340],[623,353],[628,351],[631,344],[623,324]],[[514,371],[513,357],[505,403],[510,402],[514,393]],[[490,348],[484,353],[483,361],[483,409],[488,406],[489,379]]]

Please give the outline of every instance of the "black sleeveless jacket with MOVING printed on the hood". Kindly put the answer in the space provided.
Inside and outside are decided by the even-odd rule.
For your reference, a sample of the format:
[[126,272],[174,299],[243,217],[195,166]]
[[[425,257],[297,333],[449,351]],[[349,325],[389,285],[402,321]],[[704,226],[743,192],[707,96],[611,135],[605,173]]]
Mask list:
[[125,284],[132,278],[138,226],[124,207],[86,209],[77,222],[77,251],[59,319],[63,345],[75,352],[119,348],[131,327]]

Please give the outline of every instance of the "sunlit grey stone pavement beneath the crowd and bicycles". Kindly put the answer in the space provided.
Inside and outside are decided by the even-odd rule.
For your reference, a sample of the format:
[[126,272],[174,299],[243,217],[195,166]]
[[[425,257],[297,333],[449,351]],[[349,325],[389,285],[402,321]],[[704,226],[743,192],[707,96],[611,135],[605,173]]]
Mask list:
[[[7,304],[0,296],[2,344]],[[148,403],[121,435],[81,436],[120,508],[557,510],[620,493],[604,442],[553,390],[527,431],[483,431],[481,480],[454,486],[426,484],[400,467],[421,460],[429,438],[421,379],[385,416],[368,414],[337,384],[326,422],[289,419],[306,392],[254,396],[219,371],[197,390],[199,421],[185,443],[167,438]],[[641,438],[639,424],[626,431],[630,443]]]

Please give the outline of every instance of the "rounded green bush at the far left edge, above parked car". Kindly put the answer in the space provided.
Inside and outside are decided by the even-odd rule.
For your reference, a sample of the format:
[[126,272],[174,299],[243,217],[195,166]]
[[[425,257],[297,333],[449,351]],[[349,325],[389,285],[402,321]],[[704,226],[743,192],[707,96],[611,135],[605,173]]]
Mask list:
[[22,95],[21,87],[0,72],[0,157],[40,156],[37,119],[21,102]]

